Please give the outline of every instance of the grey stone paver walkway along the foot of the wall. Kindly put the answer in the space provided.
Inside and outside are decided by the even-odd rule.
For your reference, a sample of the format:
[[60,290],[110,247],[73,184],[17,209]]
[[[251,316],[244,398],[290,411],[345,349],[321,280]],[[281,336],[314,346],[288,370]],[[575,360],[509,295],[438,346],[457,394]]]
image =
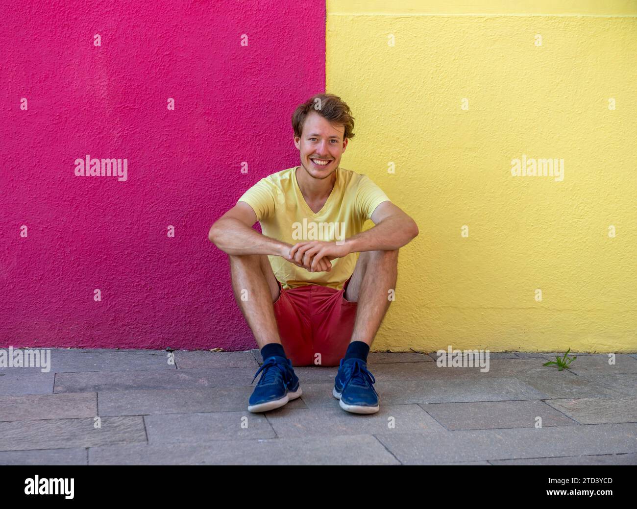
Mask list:
[[294,368],[303,396],[253,414],[259,350],[173,354],[55,349],[48,373],[0,368],[0,464],[637,464],[637,354],[558,371],[542,366],[555,354],[491,353],[482,373],[372,352],[373,415],[341,410],[337,368]]

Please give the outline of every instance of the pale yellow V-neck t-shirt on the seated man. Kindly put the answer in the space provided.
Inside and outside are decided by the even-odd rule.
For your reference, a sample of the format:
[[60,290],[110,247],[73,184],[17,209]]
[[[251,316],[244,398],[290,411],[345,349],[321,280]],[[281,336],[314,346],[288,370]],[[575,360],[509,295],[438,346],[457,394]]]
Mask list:
[[[366,220],[387,195],[372,180],[348,169],[336,169],[336,182],[323,208],[314,213],[306,203],[296,169],[268,175],[238,199],[252,207],[264,235],[291,245],[297,242],[341,241],[361,233]],[[304,171],[301,169],[300,171]],[[329,272],[310,272],[281,256],[268,255],[276,279],[288,290],[317,284],[341,290],[354,272],[356,253],[332,260]]]

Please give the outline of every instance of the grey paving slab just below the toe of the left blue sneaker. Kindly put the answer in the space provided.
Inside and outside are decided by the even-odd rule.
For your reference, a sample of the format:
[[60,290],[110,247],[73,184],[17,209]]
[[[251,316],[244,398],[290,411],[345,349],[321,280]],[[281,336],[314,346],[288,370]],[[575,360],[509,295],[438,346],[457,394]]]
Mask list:
[[144,420],[151,444],[276,437],[268,419],[247,408],[242,412],[155,413]]

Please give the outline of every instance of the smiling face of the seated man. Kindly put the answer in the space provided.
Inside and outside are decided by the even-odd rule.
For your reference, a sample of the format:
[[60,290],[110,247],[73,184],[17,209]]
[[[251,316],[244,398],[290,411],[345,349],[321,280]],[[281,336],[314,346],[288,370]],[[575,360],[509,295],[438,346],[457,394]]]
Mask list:
[[[313,178],[327,178],[341,162],[347,141],[343,141],[345,125],[331,125],[315,111],[305,118],[301,138],[294,138],[299,149],[301,165]],[[318,161],[317,161],[318,160]]]

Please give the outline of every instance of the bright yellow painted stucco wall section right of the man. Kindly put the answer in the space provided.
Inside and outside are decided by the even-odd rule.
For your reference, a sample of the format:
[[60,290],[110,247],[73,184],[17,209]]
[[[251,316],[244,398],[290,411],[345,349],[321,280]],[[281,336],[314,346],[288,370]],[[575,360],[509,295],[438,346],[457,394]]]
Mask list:
[[327,1],[341,166],[420,229],[372,350],[636,352],[637,2],[461,4]]

